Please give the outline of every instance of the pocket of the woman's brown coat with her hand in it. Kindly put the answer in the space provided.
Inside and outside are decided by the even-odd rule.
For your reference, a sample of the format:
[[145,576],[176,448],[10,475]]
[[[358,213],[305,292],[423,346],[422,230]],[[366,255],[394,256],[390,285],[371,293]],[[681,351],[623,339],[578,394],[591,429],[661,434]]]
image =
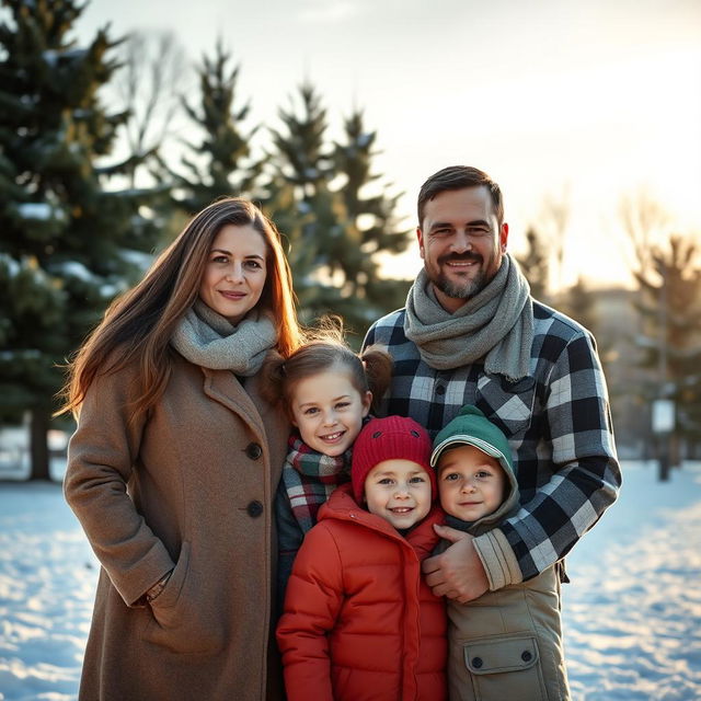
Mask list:
[[197,583],[189,570],[189,543],[180,556],[163,593],[151,604],[151,620],[142,639],[174,653],[215,653],[223,647],[223,634],[215,617],[204,614]]

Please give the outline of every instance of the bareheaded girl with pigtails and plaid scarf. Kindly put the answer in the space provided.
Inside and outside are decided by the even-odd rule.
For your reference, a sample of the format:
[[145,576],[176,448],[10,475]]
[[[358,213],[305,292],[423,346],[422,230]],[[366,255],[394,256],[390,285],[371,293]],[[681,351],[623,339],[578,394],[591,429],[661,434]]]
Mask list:
[[392,371],[383,350],[370,347],[356,355],[340,326],[325,324],[321,334],[264,368],[271,399],[281,399],[296,428],[275,499],[279,610],[304,533],[317,522],[319,507],[350,479],[353,441]]

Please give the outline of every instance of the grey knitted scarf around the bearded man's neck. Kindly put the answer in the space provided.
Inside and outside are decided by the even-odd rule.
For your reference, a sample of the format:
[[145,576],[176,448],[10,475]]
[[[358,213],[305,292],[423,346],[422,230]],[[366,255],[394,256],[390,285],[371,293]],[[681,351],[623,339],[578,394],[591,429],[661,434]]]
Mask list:
[[446,311],[427,292],[422,268],[406,298],[404,332],[432,368],[450,370],[484,358],[487,374],[509,381],[529,375],[533,342],[530,286],[518,264],[505,255],[489,285],[458,311]]

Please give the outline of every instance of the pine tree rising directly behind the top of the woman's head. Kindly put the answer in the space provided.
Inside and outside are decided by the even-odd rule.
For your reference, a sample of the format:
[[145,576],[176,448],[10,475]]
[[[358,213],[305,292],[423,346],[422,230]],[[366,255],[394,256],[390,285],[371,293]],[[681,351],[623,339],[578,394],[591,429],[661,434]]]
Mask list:
[[200,104],[183,105],[199,127],[199,143],[188,143],[189,156],[182,159],[186,174],[175,176],[176,205],[188,215],[199,211],[225,195],[249,195],[261,172],[261,163],[251,158],[251,139],[257,127],[246,134],[242,124],[249,117],[250,103],[234,105],[240,67],[229,68],[231,55],[221,42],[211,58],[204,56],[197,69]]

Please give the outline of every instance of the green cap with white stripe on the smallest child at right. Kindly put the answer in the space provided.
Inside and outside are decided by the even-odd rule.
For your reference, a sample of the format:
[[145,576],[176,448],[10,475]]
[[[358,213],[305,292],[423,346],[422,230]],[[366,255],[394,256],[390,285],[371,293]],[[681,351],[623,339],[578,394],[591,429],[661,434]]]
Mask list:
[[472,404],[466,404],[458,415],[438,433],[434,440],[430,467],[436,467],[438,458],[449,447],[466,444],[496,458],[504,470],[514,474],[514,459],[506,436]]

